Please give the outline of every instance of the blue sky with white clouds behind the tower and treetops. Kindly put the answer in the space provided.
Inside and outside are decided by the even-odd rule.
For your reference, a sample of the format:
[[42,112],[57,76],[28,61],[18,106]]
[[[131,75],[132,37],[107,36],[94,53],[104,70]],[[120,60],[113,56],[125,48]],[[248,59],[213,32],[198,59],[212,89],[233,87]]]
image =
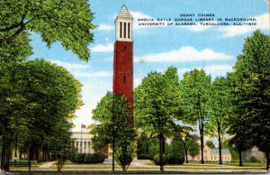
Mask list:
[[[174,65],[179,78],[185,71],[205,69],[212,78],[224,76],[232,70],[238,54],[242,53],[244,39],[255,29],[269,34],[266,0],[90,0],[94,13],[94,43],[89,45],[89,62],[79,60],[71,51],[65,51],[59,42],[50,49],[31,35],[34,54],[67,68],[83,84],[84,106],[76,111],[75,131],[80,124],[92,124],[92,110],[107,91],[112,91],[114,19],[126,5],[134,17],[134,88],[152,70],[164,71]],[[216,17],[256,17],[256,26],[148,26],[138,25],[139,18],[171,18],[180,14],[215,14]]]

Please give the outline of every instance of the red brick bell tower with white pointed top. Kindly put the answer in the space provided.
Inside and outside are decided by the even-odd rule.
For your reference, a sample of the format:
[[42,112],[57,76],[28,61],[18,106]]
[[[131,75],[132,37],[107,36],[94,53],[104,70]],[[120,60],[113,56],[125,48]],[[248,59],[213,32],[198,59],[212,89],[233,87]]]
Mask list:
[[133,17],[126,5],[115,19],[114,55],[113,55],[113,94],[121,94],[130,104],[130,125],[133,127]]

